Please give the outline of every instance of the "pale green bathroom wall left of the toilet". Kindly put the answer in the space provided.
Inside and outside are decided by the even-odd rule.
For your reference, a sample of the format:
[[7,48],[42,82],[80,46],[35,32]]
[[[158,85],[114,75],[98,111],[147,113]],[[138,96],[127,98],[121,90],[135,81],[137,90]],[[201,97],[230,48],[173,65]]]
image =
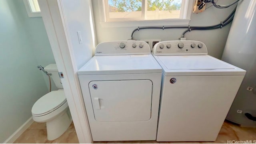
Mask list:
[[[47,46],[47,37],[41,30],[28,32],[32,25],[44,27],[38,19],[28,24],[25,15],[22,0],[0,0],[0,143],[32,116],[34,103],[48,93],[42,71],[36,67],[39,56],[35,55],[35,49]],[[40,45],[37,48],[36,43]],[[51,56],[45,53],[42,57]]]

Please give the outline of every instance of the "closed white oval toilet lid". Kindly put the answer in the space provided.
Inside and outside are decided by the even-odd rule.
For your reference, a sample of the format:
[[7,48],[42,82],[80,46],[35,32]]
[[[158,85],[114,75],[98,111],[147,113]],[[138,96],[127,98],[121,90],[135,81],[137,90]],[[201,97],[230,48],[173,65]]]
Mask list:
[[50,112],[62,103],[65,103],[64,91],[51,91],[36,101],[32,107],[32,114],[43,114]]

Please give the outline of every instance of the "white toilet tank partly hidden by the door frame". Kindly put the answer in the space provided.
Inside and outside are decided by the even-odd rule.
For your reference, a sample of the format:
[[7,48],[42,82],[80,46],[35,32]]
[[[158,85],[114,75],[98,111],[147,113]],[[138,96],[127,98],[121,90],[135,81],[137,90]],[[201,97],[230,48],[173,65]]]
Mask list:
[[48,73],[52,73],[51,78],[54,81],[56,87],[58,87],[58,89],[63,89],[56,63],[47,65],[44,67],[44,70]]

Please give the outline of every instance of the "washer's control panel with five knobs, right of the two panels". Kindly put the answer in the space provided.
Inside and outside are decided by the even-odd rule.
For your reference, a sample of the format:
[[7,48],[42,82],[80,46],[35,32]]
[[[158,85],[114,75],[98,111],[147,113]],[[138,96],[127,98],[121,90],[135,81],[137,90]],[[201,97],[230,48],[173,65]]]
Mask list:
[[153,48],[154,55],[207,55],[206,45],[200,41],[162,41]]

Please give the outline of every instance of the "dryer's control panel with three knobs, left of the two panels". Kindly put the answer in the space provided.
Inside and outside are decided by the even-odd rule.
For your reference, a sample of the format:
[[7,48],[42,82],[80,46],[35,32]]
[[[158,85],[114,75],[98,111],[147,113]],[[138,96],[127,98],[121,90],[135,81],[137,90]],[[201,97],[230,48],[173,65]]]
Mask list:
[[150,47],[145,41],[108,41],[96,46],[95,55],[136,55],[150,54]]

